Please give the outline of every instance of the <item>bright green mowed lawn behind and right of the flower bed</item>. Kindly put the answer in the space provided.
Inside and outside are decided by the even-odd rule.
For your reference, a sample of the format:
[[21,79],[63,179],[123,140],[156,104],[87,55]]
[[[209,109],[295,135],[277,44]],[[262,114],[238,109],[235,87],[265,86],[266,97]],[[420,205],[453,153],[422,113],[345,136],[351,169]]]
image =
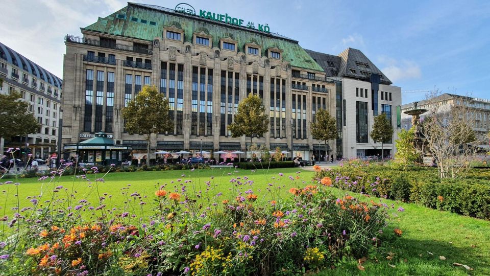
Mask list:
[[[297,171],[301,171],[297,174]],[[279,176],[283,173],[284,176]],[[182,176],[182,175],[185,176]],[[94,180],[102,177],[101,174],[88,174],[86,179],[74,178],[72,176],[57,177],[48,183],[38,181],[37,178],[19,179],[20,185],[2,185],[0,190],[0,205],[3,210],[0,214],[6,213],[11,216],[17,212],[12,210],[17,206],[17,199],[20,208],[31,206],[29,196],[39,195],[41,189],[44,191],[43,200],[54,198],[71,198],[71,205],[75,206],[82,199],[87,200],[92,206],[99,202],[99,196],[106,197],[107,209],[116,208],[112,215],[121,212],[130,212],[138,218],[145,218],[154,213],[156,205],[152,199],[155,198],[154,192],[160,185],[165,185],[167,191],[182,189],[182,185],[190,194],[202,191],[202,198],[207,203],[213,203],[223,199],[232,199],[236,195],[237,189],[247,191],[251,189],[255,194],[263,197],[262,202],[272,198],[290,196],[287,190],[291,187],[303,187],[311,181],[314,172],[301,169],[271,169],[257,170],[235,170],[234,168],[222,168],[213,170],[181,170],[181,171],[151,171],[151,172],[127,172],[109,173],[104,179],[95,185]],[[244,176],[254,183],[249,185],[235,186],[237,182],[230,182],[230,179],[237,179],[244,182]],[[288,179],[293,176],[295,180]],[[296,179],[300,176],[300,179]],[[213,177],[213,178],[212,178]],[[181,181],[178,181],[180,179]],[[187,183],[184,183],[187,180]],[[189,182],[191,180],[191,182]],[[174,181],[171,183],[171,181]],[[210,190],[206,192],[209,183]],[[15,182],[15,181],[14,181]],[[269,186],[272,183],[273,186]],[[130,185],[130,186],[129,186]],[[59,192],[53,192],[55,187],[63,186]],[[280,189],[278,189],[280,187]],[[18,197],[15,196],[18,188]],[[273,192],[266,189],[272,188]],[[65,190],[67,189],[67,190]],[[98,190],[98,191],[97,191]],[[232,191],[233,190],[233,191]],[[335,196],[343,196],[346,192],[331,189]],[[71,191],[74,191],[71,193]],[[75,192],[76,191],[76,192]],[[131,197],[132,193],[138,193],[140,198]],[[219,198],[214,198],[216,193],[223,193]],[[107,194],[107,195],[104,195]],[[335,269],[323,270],[320,275],[490,275],[490,223],[470,217],[464,217],[448,212],[440,212],[425,208],[412,203],[396,202],[391,200],[380,200],[379,198],[366,198],[353,194],[361,200],[384,202],[388,205],[394,204],[393,219],[385,233],[382,235],[381,248],[378,254],[370,257],[363,263],[364,271],[358,269],[358,263],[354,260],[346,260],[339,264]],[[147,196],[145,198],[145,196]],[[146,204],[140,205],[139,202]],[[42,203],[48,204],[48,203]],[[404,212],[397,212],[401,206]],[[82,216],[90,219],[92,212],[81,212]],[[403,231],[401,237],[394,237],[393,229],[400,228]],[[430,253],[429,253],[430,252]],[[386,259],[390,256],[391,260]],[[440,260],[443,256],[446,260]],[[473,270],[467,270],[461,266],[454,266],[453,263],[468,265]],[[391,267],[391,266],[395,267]]]

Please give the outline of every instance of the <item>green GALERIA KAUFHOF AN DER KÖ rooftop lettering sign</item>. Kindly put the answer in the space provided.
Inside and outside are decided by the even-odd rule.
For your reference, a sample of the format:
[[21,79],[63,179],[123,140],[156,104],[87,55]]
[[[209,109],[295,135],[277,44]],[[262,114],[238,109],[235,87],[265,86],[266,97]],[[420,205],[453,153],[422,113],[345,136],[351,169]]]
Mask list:
[[228,13],[220,14],[220,13],[214,13],[214,12],[210,12],[210,11],[206,11],[206,10],[199,10],[199,15],[198,15],[195,12],[195,9],[186,3],[178,4],[177,6],[175,6],[174,10],[176,12],[195,15],[195,16],[199,16],[201,18],[206,18],[206,19],[213,20],[213,21],[223,22],[223,23],[227,23],[227,24],[231,24],[231,25],[235,25],[235,26],[239,26],[239,27],[246,27],[246,28],[256,30],[259,32],[264,32],[264,33],[270,33],[271,32],[271,29],[269,28],[268,24],[265,24],[265,25],[258,24],[257,29],[256,29],[254,22],[248,21],[247,25],[244,26],[243,25],[244,24],[243,19],[232,17],[232,16],[228,15]]

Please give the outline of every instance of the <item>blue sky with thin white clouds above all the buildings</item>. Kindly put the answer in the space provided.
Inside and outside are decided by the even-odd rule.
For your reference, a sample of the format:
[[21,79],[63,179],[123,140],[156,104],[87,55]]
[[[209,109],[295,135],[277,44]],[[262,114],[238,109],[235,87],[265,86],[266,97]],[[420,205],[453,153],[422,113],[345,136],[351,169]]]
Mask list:
[[[174,8],[181,1],[140,2]],[[119,0],[2,0],[0,41],[62,77],[66,34],[126,6]],[[339,54],[361,50],[402,90],[437,87],[490,98],[490,1],[197,1]],[[425,98],[403,94],[403,103]]]

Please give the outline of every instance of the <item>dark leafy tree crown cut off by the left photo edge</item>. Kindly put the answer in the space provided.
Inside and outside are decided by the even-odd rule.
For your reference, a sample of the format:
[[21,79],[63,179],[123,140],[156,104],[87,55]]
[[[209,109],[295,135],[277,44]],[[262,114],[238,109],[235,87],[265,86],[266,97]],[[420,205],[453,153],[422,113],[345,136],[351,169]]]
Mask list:
[[28,111],[29,104],[21,99],[17,92],[10,95],[0,94],[0,139],[25,136],[35,133],[41,127]]

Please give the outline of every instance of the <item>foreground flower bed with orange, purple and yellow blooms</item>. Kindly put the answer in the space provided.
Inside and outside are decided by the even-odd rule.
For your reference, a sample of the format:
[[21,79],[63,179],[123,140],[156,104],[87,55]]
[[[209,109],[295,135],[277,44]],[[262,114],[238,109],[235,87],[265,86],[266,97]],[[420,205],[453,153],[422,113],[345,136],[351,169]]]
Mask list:
[[[91,183],[92,192],[110,185],[103,178]],[[152,196],[134,192],[127,207],[117,210],[107,206],[107,195],[99,202],[72,200],[74,194],[62,198],[64,189],[57,187],[33,198],[32,208],[3,219],[4,227],[16,232],[0,240],[0,270],[17,275],[303,274],[375,249],[388,223],[386,205],[334,197],[329,181],[307,185],[299,172],[274,178],[265,191],[254,190],[247,177],[232,178],[233,189],[225,196],[214,192],[212,180],[202,183],[202,192],[193,190],[196,186],[187,191],[192,180],[183,175],[183,181],[160,185]],[[281,179],[294,183],[289,196],[281,195]],[[263,199],[265,194],[272,199]],[[141,204],[152,204],[154,213],[136,216]],[[92,219],[82,219],[82,212]]]

